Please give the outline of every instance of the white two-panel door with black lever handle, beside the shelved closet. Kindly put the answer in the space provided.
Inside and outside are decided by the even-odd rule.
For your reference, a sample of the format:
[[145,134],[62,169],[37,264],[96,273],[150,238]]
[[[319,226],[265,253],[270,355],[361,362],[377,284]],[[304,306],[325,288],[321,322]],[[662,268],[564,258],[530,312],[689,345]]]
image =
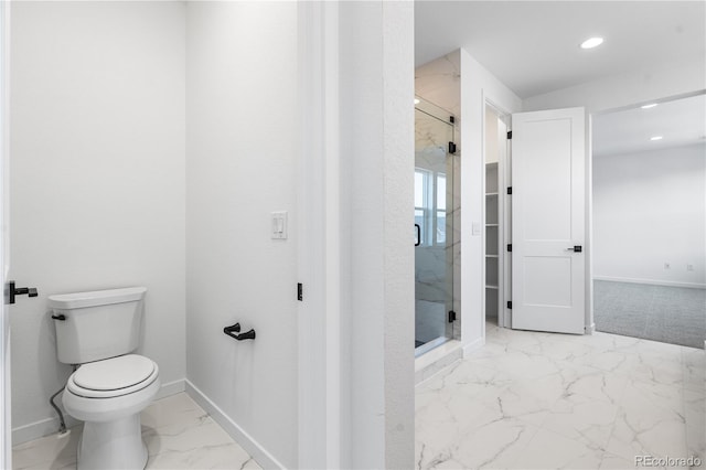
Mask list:
[[513,329],[584,333],[585,116],[512,116]]

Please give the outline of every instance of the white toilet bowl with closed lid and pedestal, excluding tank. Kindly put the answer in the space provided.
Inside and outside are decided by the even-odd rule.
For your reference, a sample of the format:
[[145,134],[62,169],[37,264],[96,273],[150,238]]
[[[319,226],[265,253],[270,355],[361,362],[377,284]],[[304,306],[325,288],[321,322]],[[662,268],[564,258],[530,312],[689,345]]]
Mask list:
[[78,469],[145,468],[140,412],[159,387],[159,367],[137,354],[84,364],[72,374],[62,402],[66,413],[85,421]]

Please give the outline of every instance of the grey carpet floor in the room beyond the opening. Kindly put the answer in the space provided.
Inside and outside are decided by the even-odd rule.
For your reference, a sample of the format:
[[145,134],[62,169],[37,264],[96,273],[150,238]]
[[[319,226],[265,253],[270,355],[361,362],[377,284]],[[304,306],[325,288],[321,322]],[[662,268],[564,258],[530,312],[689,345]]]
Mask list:
[[596,330],[704,349],[706,290],[593,280]]

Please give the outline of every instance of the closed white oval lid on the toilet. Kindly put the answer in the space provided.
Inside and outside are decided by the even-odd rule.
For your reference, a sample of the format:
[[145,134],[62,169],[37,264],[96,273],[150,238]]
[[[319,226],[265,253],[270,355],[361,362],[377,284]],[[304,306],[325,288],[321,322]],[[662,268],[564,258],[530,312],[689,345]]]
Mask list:
[[157,367],[151,360],[128,354],[82,365],[73,383],[88,391],[118,391],[148,380]]

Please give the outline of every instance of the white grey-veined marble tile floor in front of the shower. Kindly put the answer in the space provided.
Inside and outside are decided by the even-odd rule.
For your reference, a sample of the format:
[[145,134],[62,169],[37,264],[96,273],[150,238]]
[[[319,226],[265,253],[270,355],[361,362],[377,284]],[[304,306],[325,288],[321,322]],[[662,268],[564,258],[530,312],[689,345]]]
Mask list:
[[650,468],[706,468],[705,354],[488,324],[481,350],[417,386],[416,467],[635,469],[651,456],[702,463]]

